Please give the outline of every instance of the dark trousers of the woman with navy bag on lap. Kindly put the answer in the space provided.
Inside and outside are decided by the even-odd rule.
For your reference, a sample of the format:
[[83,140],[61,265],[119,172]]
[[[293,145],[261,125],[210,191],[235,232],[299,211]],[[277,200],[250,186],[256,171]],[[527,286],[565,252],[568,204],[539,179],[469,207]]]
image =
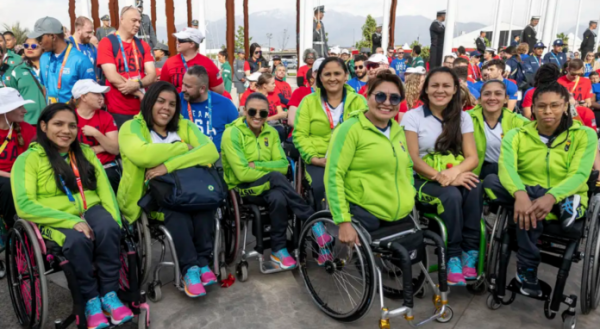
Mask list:
[[215,212],[207,210],[186,214],[160,209],[165,214],[165,227],[173,238],[179,270],[185,275],[190,267],[208,266],[213,251]]

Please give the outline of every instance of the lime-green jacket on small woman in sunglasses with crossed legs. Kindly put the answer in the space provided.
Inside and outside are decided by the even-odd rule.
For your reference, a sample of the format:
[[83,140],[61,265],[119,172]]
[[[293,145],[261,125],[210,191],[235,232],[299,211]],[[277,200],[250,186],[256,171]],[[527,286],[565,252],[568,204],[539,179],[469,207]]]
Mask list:
[[[275,128],[265,123],[256,137],[244,117],[226,127],[221,140],[221,154],[229,189],[255,182],[272,171],[287,174],[289,163]],[[254,162],[254,168],[248,166],[250,162]]]

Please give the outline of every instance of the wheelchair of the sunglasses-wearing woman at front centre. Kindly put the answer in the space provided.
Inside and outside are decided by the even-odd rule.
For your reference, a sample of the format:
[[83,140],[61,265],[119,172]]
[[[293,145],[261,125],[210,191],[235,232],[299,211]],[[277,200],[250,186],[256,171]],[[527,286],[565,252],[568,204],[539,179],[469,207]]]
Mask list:
[[[328,246],[331,258],[323,265],[317,263],[319,246],[311,227],[325,226],[333,241]],[[445,245],[442,238],[421,230],[417,221],[403,220],[382,226],[368,233],[358,222],[352,222],[360,245],[350,248],[338,241],[338,226],[331,213],[323,210],[306,222],[300,234],[298,264],[304,284],[314,303],[325,314],[342,322],[363,317],[379,293],[381,318],[379,328],[390,328],[390,318],[404,316],[411,326],[436,320],[452,320],[448,305]],[[426,246],[433,246],[438,257],[439,288],[431,279],[427,266]],[[413,294],[428,284],[433,289],[433,315],[419,323],[413,316]],[[401,299],[404,305],[390,310],[384,297]]]

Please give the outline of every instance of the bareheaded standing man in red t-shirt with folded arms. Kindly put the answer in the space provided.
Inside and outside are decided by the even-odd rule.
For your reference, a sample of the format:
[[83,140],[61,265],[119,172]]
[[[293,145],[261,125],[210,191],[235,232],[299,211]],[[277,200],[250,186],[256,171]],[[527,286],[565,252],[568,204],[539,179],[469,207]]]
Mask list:
[[[140,112],[144,88],[156,80],[152,50],[145,41],[135,37],[141,19],[136,8],[125,10],[121,13],[116,35],[103,38],[98,44],[97,65],[104,72],[106,86],[110,87],[106,94],[106,107],[118,127]],[[119,43],[116,56],[113,53],[115,38]]]

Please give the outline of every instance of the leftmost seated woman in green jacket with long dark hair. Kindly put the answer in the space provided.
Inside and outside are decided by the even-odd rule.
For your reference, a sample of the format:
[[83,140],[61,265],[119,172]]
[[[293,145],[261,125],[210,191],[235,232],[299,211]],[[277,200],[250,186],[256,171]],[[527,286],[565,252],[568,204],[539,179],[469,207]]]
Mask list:
[[116,293],[119,207],[96,154],[77,142],[77,115],[68,105],[53,104],[42,111],[37,143],[15,162],[11,183],[19,217],[40,226],[43,238],[61,246],[67,260],[76,264],[88,328],[108,327],[107,317],[114,325],[132,319]]

